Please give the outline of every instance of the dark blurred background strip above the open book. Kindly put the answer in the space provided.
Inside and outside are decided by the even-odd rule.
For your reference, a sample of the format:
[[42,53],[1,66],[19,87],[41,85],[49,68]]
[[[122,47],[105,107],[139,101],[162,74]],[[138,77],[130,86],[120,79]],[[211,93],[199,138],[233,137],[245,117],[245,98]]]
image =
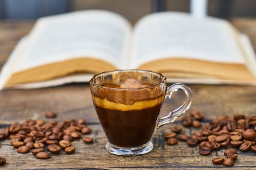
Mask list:
[[0,0],[0,19],[36,19],[70,11],[105,9],[136,22],[157,11],[190,12],[191,3],[195,2],[206,3],[209,16],[225,19],[256,16],[255,0]]

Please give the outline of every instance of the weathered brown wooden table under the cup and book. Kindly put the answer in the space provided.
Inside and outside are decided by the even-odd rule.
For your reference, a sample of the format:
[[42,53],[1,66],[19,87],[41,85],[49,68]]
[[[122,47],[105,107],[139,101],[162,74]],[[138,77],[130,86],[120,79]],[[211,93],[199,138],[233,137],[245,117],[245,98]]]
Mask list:
[[[249,35],[256,49],[256,20],[236,19],[234,25],[241,32]],[[14,45],[29,32],[33,22],[0,22],[0,67],[10,55]],[[189,85],[194,93],[191,109],[205,114],[204,122],[209,122],[220,114],[232,116],[242,113],[256,115],[256,87],[231,85]],[[173,100],[178,105],[182,95],[177,94]],[[162,113],[171,109],[165,102]],[[198,147],[188,147],[185,142],[169,146],[165,144],[164,132],[169,132],[174,125],[161,127],[153,134],[154,150],[143,156],[122,157],[107,153],[104,149],[107,141],[99,124],[88,84],[71,84],[59,87],[31,90],[0,91],[0,130],[25,119],[45,119],[47,110],[58,112],[56,120],[67,118],[86,118],[92,128],[94,144],[84,144],[76,140],[73,145],[75,153],[67,155],[61,152],[52,155],[49,160],[38,160],[32,153],[18,154],[9,140],[0,141],[0,155],[7,162],[0,169],[217,169],[223,165],[211,163],[212,157],[223,156],[224,149],[212,152],[210,156],[198,153]],[[49,121],[49,120],[48,120]],[[181,124],[180,120],[176,124]],[[190,135],[195,128],[186,128],[183,133]],[[253,152],[238,151],[238,160],[233,169],[255,169],[256,157]]]

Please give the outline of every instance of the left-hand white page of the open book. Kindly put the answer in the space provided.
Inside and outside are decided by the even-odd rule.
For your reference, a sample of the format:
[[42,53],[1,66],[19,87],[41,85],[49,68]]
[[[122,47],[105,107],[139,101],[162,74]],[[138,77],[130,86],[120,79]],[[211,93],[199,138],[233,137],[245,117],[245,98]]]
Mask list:
[[27,37],[13,72],[80,57],[101,59],[122,68],[130,32],[129,22],[108,11],[43,17]]

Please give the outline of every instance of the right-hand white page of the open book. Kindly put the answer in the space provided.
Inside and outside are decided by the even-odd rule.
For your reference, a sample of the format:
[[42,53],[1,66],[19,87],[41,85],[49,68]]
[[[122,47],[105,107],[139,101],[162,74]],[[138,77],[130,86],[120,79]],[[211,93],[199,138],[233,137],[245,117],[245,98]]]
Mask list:
[[178,12],[151,14],[135,26],[131,66],[161,58],[245,63],[236,31],[227,21]]

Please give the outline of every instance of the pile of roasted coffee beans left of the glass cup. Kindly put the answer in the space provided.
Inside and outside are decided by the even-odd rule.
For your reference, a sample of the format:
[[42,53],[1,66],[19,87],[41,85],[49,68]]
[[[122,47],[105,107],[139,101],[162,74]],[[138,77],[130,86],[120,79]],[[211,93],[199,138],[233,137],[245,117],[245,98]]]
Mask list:
[[[53,114],[54,113],[54,114]],[[56,117],[52,111],[46,112],[46,117]],[[63,122],[51,120],[27,119],[23,123],[14,123],[0,132],[0,139],[9,138],[18,153],[32,152],[37,159],[49,159],[52,154],[58,154],[63,149],[67,154],[75,151],[71,142],[80,139],[82,135],[90,134],[91,129],[86,125],[86,120],[79,118],[66,119]],[[94,139],[88,136],[82,138],[84,143],[93,143]],[[5,158],[0,157],[0,165],[4,164]]]

